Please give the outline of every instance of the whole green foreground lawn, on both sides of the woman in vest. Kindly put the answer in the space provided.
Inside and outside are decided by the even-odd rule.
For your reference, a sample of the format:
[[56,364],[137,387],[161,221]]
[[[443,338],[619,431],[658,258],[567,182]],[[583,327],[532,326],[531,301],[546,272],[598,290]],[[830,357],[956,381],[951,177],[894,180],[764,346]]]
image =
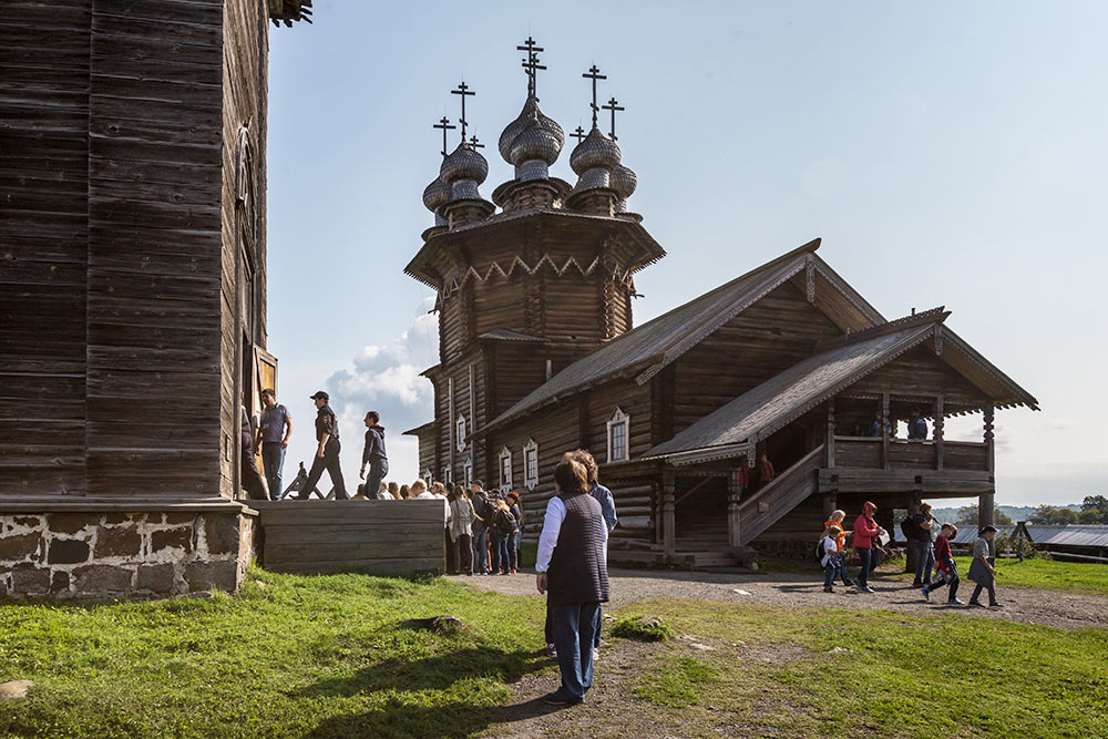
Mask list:
[[[507,684],[543,670],[553,684],[538,598],[442,579],[253,577],[211,601],[0,605],[0,681],[37,684],[0,704],[0,736],[464,737],[506,720]],[[401,624],[443,613],[468,627]],[[712,648],[652,645],[612,721],[679,711],[708,733],[726,715],[782,736],[1088,737],[1108,726],[1105,629],[700,601],[618,614],[635,615]],[[620,640],[606,649],[601,680]]]

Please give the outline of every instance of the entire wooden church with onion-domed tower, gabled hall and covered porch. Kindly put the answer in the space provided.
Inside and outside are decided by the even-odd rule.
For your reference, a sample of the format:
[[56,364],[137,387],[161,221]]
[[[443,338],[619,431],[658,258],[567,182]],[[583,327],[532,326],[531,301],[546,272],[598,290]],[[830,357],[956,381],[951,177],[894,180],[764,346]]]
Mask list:
[[[562,127],[535,95],[499,150],[515,177],[492,202],[475,140],[448,153],[423,202],[434,226],[406,271],[438,292],[434,421],[419,438],[428,478],[522,491],[526,533],[542,525],[552,472],[589,450],[615,495],[615,562],[712,566],[755,548],[811,542],[835,507],[979,496],[989,522],[997,408],[1037,409],[946,325],[942,308],[886,319],[818,254],[819,239],[637,328],[635,274],[665,256],[627,209],[635,174],[615,141],[577,130],[576,183],[551,174]],[[452,126],[443,120],[443,135]],[[895,434],[913,410],[923,440]],[[946,441],[944,420],[982,413],[981,441]],[[865,435],[880,419],[879,435]],[[767,459],[771,480],[743,471]],[[755,484],[751,484],[753,481]]]

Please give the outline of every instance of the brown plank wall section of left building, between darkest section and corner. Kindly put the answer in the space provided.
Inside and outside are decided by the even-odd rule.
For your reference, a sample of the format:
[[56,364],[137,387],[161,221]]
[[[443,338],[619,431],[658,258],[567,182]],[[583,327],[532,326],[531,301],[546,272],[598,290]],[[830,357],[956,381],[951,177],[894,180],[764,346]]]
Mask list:
[[88,491],[214,495],[223,9],[91,7]]

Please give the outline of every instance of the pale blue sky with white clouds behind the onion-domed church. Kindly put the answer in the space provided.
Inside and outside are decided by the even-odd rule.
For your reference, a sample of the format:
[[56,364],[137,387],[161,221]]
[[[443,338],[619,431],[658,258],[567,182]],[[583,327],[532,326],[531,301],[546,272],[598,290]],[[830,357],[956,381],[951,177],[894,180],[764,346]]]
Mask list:
[[[437,319],[403,267],[432,225],[431,126],[456,121],[464,79],[489,144],[482,195],[510,179],[495,143],[525,99],[530,34],[542,110],[567,132],[588,127],[594,63],[601,99],[626,107],[630,209],[668,252],[636,276],[636,325],[822,237],[888,318],[946,306],[1039,400],[997,412],[998,503],[1108,493],[1108,3],[314,6],[314,24],[270,28],[268,347],[296,422],[287,481],[310,463],[319,389],[348,487],[369,409],[389,479],[418,474],[400,432],[432,419],[419,373],[438,362]],[[573,182],[570,151],[552,173]],[[979,417],[947,438],[979,439]]]

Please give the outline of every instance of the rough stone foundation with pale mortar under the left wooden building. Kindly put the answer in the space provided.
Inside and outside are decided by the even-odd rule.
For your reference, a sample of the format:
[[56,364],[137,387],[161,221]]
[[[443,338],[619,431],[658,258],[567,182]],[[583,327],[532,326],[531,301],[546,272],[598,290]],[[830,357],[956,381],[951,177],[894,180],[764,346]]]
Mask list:
[[239,512],[0,514],[0,595],[235,592],[253,555]]

